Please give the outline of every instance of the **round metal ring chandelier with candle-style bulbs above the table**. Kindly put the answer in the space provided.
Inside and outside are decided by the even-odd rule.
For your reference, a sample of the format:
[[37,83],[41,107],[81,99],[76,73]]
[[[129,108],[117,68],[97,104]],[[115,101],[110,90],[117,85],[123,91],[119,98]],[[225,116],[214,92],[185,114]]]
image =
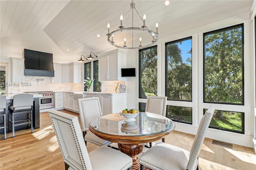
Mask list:
[[[142,20],[143,25],[141,27],[134,27],[134,10],[138,14],[140,20]],[[124,27],[123,23],[127,15],[132,11],[132,27]],[[143,19],[140,17],[138,11],[135,8],[135,3],[132,0],[130,4],[130,10],[123,18],[120,16],[120,26],[115,31],[110,33],[110,24],[108,23],[108,43],[120,48],[120,49],[141,49],[154,45],[158,41],[158,23],[156,23],[156,31],[148,29],[146,25],[146,15],[144,14]],[[140,37],[140,38],[135,38]],[[143,39],[142,39],[143,37]],[[121,43],[120,43],[121,39]],[[119,41],[116,41],[119,40]],[[126,40],[128,40],[126,42]],[[116,41],[116,42],[115,42]],[[118,43],[119,42],[119,43]]]

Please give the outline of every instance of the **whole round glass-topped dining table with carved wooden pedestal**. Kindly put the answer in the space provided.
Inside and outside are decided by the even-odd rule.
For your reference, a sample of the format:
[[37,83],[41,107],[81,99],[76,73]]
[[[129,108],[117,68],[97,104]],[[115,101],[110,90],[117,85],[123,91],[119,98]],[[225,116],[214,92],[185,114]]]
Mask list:
[[175,129],[175,125],[167,117],[154,113],[140,112],[134,121],[128,121],[122,113],[111,113],[91,121],[89,129],[102,139],[118,143],[118,149],[132,157],[132,170],[139,170],[137,155],[145,143],[162,139]]

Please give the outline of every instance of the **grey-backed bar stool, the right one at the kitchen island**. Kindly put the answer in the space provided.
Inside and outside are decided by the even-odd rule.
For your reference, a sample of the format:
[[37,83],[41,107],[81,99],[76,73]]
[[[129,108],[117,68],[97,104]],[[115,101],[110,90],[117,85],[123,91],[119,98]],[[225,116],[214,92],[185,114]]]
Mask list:
[[[24,113],[28,114],[27,119],[14,119],[16,115]],[[9,106],[9,123],[12,124],[12,137],[15,137],[14,127],[18,125],[30,124],[31,133],[33,133],[33,94],[16,94],[13,96],[13,104]]]

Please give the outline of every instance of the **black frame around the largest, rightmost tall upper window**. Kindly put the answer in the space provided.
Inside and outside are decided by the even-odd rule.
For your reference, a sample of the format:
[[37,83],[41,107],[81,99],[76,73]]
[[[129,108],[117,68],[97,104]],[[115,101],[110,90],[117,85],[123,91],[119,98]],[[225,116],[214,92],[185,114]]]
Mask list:
[[[242,29],[242,93],[243,93],[243,99],[241,104],[236,103],[228,103],[228,102],[206,102],[205,100],[205,36],[212,34],[212,33],[219,33],[222,31],[230,30],[230,29],[236,29],[238,27],[241,27]],[[232,25],[229,27],[224,27],[221,29],[216,29],[214,31],[208,31],[206,33],[203,33],[203,103],[211,103],[211,104],[229,104],[229,105],[240,105],[244,106],[244,23]]]

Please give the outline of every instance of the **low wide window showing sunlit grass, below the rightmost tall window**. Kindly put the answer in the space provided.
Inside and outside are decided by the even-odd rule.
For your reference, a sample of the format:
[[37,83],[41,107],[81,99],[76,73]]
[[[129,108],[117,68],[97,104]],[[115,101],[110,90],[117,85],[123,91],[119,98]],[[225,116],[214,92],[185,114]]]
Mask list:
[[215,110],[209,127],[244,134],[244,113]]

